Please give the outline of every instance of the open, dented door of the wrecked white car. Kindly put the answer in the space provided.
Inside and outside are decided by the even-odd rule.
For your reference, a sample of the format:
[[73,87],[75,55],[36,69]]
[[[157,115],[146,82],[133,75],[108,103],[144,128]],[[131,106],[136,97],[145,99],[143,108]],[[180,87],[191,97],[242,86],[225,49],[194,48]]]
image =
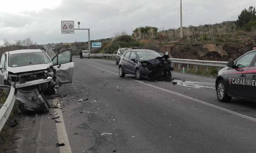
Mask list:
[[59,52],[53,59],[53,67],[56,69],[58,84],[71,83],[74,71],[71,49]]

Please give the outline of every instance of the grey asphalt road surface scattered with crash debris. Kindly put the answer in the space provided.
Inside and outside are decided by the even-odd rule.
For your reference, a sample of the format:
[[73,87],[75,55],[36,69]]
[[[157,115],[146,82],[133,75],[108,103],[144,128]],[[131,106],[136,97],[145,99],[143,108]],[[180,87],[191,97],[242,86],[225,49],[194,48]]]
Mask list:
[[[10,152],[256,151],[256,104],[218,102],[214,78],[174,72],[177,85],[136,81],[120,78],[115,61],[73,60],[73,83],[54,99],[63,109],[21,116]],[[54,111],[64,122],[51,119]]]

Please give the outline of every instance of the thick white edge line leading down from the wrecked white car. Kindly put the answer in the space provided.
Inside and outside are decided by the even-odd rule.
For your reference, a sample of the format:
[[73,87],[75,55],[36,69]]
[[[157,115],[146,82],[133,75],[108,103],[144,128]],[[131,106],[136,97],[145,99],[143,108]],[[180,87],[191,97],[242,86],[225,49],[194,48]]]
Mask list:
[[[53,105],[57,105],[58,102],[59,102],[58,98],[53,99]],[[71,153],[72,151],[71,151],[71,148],[69,145],[69,139],[68,139],[68,135],[67,135],[66,128],[65,128],[64,119],[62,117],[62,112],[59,108],[54,108],[54,112],[58,113],[55,115],[55,117],[59,116],[59,118],[56,120],[62,121],[60,123],[56,123],[59,144],[61,144],[61,143],[65,144],[65,146],[59,147],[59,151],[60,151],[60,153]]]

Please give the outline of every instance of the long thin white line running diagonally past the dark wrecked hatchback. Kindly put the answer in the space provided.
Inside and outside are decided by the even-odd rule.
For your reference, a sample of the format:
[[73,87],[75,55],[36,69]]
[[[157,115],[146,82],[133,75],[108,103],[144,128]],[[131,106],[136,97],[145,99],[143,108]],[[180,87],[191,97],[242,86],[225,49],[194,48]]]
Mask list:
[[[78,62],[81,62],[81,61],[78,61]],[[83,63],[85,63],[85,62],[83,62]],[[88,64],[88,63],[85,63],[85,64]],[[100,67],[96,67],[96,66],[91,65],[91,64],[88,64],[88,65],[90,65],[90,66],[92,66],[92,67],[95,67],[95,68],[98,68],[98,69],[100,69],[100,70],[104,70],[104,69],[102,69],[102,68],[100,68]],[[117,74],[117,73],[114,73],[114,72],[111,72],[111,71],[108,71],[108,70],[104,70],[104,71],[110,72],[110,73],[112,73],[112,74],[119,75],[119,74]],[[182,94],[177,93],[177,92],[169,91],[169,90],[166,90],[166,89],[163,89],[163,88],[160,88],[160,87],[157,87],[157,86],[154,86],[154,85],[151,85],[151,84],[142,82],[142,81],[138,81],[138,80],[136,80],[136,81],[139,82],[139,83],[145,84],[145,85],[147,85],[147,86],[151,86],[151,87],[153,87],[153,88],[156,88],[156,89],[159,89],[159,90],[162,90],[162,91],[166,91],[166,92],[172,93],[172,94],[174,94],[174,95],[181,96],[181,97],[183,97],[183,98],[187,98],[187,99],[189,99],[189,100],[196,101],[196,102],[199,102],[199,103],[201,103],[201,104],[204,104],[204,105],[207,105],[207,106],[210,106],[210,107],[213,107],[213,108],[217,108],[217,109],[219,109],[219,110],[228,112],[228,113],[230,113],[230,114],[233,114],[233,115],[236,115],[236,116],[240,116],[240,117],[242,117],[242,118],[246,118],[246,119],[248,119],[248,120],[251,120],[251,121],[255,121],[255,122],[256,122],[256,119],[253,118],[253,117],[246,116],[246,115],[243,115],[243,114],[234,112],[234,111],[230,111],[230,110],[228,110],[228,109],[226,109],[226,108],[222,108],[222,107],[219,107],[219,106],[216,106],[216,105],[213,105],[213,104],[204,102],[204,101],[200,101],[200,100],[198,100],[198,99],[195,99],[195,98],[192,98],[192,97],[189,97],[189,96],[186,96],[186,95],[182,95]]]

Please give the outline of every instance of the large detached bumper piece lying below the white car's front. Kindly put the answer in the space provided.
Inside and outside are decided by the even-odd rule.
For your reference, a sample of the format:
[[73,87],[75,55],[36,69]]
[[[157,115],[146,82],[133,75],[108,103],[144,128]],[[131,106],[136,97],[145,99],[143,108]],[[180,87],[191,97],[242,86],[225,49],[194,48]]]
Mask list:
[[17,89],[16,99],[18,100],[18,109],[22,112],[47,112],[50,105],[43,94],[38,89],[23,91]]

